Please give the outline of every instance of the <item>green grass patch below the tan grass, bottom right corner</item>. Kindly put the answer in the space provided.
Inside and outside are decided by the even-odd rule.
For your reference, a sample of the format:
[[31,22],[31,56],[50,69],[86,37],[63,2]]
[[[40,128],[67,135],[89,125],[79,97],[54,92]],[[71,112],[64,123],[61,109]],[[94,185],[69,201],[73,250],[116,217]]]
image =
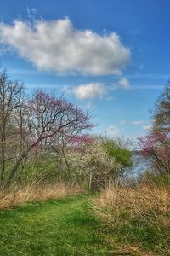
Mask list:
[[136,247],[138,252],[148,252],[154,256],[170,255],[169,223],[129,218],[126,224],[115,224],[108,232],[116,238],[116,245]]

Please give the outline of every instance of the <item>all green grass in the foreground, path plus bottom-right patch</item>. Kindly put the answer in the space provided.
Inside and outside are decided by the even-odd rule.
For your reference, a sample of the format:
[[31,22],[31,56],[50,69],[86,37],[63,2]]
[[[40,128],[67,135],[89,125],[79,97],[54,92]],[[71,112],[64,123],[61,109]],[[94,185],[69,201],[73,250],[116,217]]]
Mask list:
[[170,255],[168,224],[125,212],[124,221],[111,227],[92,214],[92,198],[75,195],[0,211],[0,255]]

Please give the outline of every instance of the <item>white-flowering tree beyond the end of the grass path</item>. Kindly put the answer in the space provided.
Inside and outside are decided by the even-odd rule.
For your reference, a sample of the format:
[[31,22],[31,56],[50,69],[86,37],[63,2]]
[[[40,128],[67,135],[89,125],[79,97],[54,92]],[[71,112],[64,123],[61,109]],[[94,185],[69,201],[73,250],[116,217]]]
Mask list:
[[67,152],[71,175],[88,183],[89,189],[107,186],[121,168],[114,158],[110,158],[101,143],[84,143],[81,148]]

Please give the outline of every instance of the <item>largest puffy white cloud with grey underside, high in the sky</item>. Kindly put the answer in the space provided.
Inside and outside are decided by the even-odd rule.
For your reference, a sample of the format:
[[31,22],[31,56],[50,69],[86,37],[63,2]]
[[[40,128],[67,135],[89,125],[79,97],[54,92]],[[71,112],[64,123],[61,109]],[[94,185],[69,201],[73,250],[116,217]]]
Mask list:
[[36,67],[57,73],[121,74],[131,55],[116,32],[77,30],[68,18],[0,23],[0,38]]

